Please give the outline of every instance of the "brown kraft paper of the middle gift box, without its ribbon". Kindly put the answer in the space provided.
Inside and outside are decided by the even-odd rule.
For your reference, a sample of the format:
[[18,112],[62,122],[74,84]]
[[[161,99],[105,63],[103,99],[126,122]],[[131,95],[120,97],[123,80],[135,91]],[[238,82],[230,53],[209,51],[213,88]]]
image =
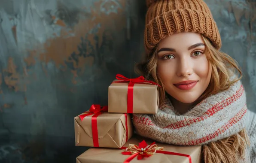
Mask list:
[[[76,146],[93,147],[91,116],[86,116],[83,121],[79,115],[75,121]],[[127,114],[128,139],[134,133],[131,116]],[[97,117],[99,147],[121,148],[126,141],[125,115],[120,113],[104,112]]]

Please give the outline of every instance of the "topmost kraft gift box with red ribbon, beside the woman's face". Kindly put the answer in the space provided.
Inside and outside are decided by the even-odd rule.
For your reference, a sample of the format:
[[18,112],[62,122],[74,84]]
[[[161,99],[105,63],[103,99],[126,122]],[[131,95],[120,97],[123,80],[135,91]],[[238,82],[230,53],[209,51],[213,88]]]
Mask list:
[[158,84],[117,74],[108,88],[108,112],[155,114],[158,110]]

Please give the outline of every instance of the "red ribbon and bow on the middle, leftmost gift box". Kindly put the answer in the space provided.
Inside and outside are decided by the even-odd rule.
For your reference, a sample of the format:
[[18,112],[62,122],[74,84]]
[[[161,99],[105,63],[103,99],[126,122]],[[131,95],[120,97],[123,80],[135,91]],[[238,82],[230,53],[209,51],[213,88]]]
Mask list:
[[[98,104],[92,104],[89,112],[85,112],[87,114],[79,115],[81,121],[88,115],[91,116],[91,131],[92,131],[92,140],[93,146],[99,147],[99,138],[98,138],[98,126],[97,126],[97,117],[101,115],[101,113],[107,112],[107,106],[101,107]],[[128,124],[127,124],[127,114],[125,114],[125,127],[126,127],[126,142],[128,141]]]

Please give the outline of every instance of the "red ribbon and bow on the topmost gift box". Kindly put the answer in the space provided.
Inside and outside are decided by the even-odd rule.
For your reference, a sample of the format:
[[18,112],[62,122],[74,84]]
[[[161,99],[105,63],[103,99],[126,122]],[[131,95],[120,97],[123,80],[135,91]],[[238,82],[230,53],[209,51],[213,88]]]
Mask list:
[[[126,78],[124,75],[116,74],[116,79],[119,81],[115,81],[114,83],[129,82],[127,91],[127,113],[133,113],[133,87],[135,83],[150,83],[153,85],[158,85],[155,82],[145,80],[143,76],[137,78]],[[161,87],[160,85],[158,86]]]

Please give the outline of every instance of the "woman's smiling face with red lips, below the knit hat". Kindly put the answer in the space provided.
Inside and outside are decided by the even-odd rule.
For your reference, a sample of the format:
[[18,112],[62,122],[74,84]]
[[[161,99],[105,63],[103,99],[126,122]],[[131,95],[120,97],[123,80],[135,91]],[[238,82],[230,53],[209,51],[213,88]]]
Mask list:
[[182,103],[193,103],[210,83],[212,68],[198,33],[175,33],[158,45],[157,73],[165,91]]

